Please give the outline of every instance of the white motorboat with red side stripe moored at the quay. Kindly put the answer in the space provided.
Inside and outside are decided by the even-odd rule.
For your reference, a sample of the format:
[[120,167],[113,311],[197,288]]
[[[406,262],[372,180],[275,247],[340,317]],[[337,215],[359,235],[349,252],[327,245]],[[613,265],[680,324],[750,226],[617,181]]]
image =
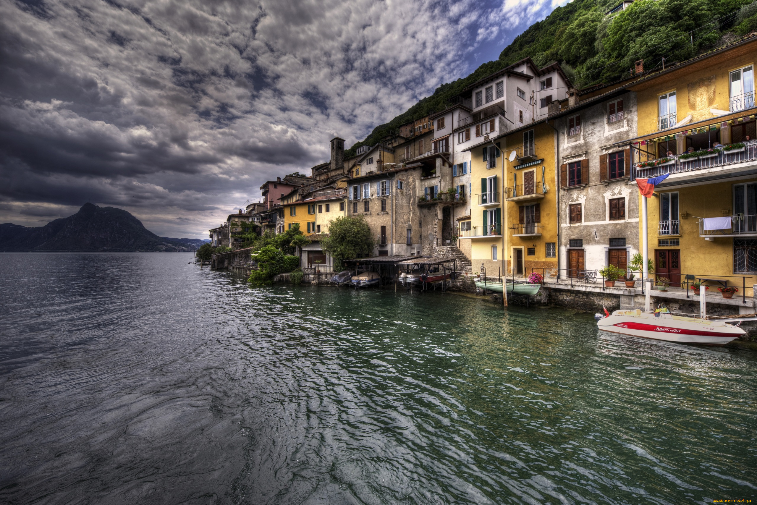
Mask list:
[[[599,317],[599,315],[597,315]],[[674,316],[641,310],[615,310],[607,313],[597,326],[606,332],[678,342],[681,344],[725,345],[746,332],[724,320]]]

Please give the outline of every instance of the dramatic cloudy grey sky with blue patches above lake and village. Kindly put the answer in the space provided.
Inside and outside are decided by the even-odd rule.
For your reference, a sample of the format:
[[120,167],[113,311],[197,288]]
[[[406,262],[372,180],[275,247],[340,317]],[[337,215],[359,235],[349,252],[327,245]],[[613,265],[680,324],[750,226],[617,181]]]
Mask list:
[[565,0],[0,0],[0,223],[206,238]]

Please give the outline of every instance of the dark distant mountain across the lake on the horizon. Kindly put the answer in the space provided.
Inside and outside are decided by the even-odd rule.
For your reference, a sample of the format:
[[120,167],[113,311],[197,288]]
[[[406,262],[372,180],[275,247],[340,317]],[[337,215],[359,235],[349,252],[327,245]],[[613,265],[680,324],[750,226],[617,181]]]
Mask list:
[[159,237],[126,210],[94,204],[36,228],[0,224],[0,251],[6,252],[176,252],[194,251],[203,242]]

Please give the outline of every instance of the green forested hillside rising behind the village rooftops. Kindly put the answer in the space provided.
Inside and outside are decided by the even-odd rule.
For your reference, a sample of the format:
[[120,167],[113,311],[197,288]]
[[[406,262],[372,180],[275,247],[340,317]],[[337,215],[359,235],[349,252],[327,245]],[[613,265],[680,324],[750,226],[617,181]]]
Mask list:
[[757,30],[757,2],[752,0],[637,0],[625,11],[606,14],[621,0],[573,0],[531,25],[500,58],[473,73],[439,86],[389,123],[376,126],[360,145],[374,145],[399,126],[447,107],[466,86],[530,56],[541,67],[559,61],[578,88],[628,76],[634,61],[645,70],[683,61],[722,42]]

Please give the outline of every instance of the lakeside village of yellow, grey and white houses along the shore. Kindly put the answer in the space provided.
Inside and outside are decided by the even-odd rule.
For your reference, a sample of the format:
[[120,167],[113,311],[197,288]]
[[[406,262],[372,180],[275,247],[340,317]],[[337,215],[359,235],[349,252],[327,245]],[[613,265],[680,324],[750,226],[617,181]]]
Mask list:
[[749,329],[755,55],[751,33],[588,89],[525,58],[354,155],[332,139],[329,162],[266,182],[261,203],[211,229],[204,259],[260,283],[501,293],[504,277],[500,303],[585,310],[640,308],[651,288],[653,303],[698,314],[704,292],[708,315]]

